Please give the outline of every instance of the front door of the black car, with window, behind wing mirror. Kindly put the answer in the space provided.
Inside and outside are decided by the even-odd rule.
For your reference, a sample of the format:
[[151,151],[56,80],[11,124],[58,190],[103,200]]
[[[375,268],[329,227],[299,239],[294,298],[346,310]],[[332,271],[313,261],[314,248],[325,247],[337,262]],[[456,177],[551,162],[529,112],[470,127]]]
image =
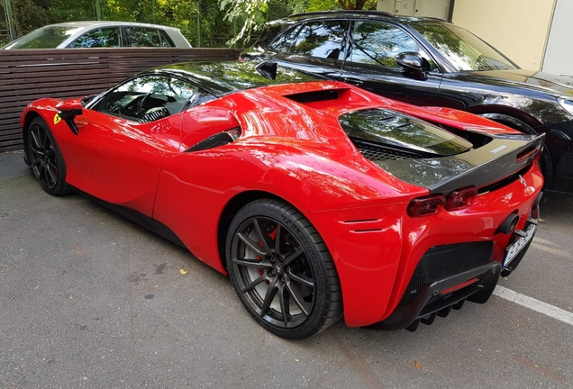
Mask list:
[[[405,103],[437,104],[441,72],[408,32],[391,23],[355,21],[349,44],[341,81]],[[406,72],[396,63],[396,55],[405,51],[422,56],[423,74]]]

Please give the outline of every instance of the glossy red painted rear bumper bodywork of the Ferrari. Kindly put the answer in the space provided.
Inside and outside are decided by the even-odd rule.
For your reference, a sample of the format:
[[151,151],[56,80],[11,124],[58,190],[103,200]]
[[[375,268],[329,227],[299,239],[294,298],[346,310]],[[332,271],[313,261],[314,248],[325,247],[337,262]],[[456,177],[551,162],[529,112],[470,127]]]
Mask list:
[[[310,213],[318,231],[329,231],[323,239],[341,279],[346,324],[368,327],[409,305],[411,302],[401,300],[415,269],[424,254],[437,246],[487,242],[490,249],[487,255],[476,255],[479,259],[471,266],[456,267],[433,277],[432,282],[490,262],[501,264],[513,236],[498,232],[498,227],[515,214],[519,217],[516,228],[523,230],[538,204],[542,185],[539,167],[532,164],[523,176],[478,195],[474,204],[461,212],[413,219],[405,216],[405,203]],[[466,256],[462,253],[457,258]],[[515,258],[512,265],[518,260]]]

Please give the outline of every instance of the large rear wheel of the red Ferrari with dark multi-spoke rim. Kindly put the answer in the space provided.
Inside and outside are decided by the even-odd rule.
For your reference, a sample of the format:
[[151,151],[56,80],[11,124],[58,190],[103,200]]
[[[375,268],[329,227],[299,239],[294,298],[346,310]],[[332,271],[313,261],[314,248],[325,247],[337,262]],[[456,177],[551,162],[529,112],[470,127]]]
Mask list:
[[341,317],[341,284],[320,234],[292,205],[260,199],[234,216],[226,260],[250,315],[285,339],[305,339]]

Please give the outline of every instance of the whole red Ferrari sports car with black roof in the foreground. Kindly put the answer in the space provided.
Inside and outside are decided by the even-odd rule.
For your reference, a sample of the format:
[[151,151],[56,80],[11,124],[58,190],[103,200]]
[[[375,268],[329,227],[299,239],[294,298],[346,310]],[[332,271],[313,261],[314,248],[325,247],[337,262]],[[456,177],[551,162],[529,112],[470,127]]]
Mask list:
[[50,195],[95,198],[229,274],[265,329],[415,330],[485,303],[537,228],[542,137],[273,63],[188,63],[22,114]]

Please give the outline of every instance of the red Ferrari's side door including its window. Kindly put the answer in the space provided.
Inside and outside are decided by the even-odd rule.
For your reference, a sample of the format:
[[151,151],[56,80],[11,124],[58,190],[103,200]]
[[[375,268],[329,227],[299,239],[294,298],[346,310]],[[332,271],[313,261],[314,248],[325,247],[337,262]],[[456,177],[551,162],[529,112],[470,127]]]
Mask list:
[[146,75],[88,104],[66,155],[72,185],[151,216],[161,160],[178,152],[180,112],[195,89],[174,77]]

